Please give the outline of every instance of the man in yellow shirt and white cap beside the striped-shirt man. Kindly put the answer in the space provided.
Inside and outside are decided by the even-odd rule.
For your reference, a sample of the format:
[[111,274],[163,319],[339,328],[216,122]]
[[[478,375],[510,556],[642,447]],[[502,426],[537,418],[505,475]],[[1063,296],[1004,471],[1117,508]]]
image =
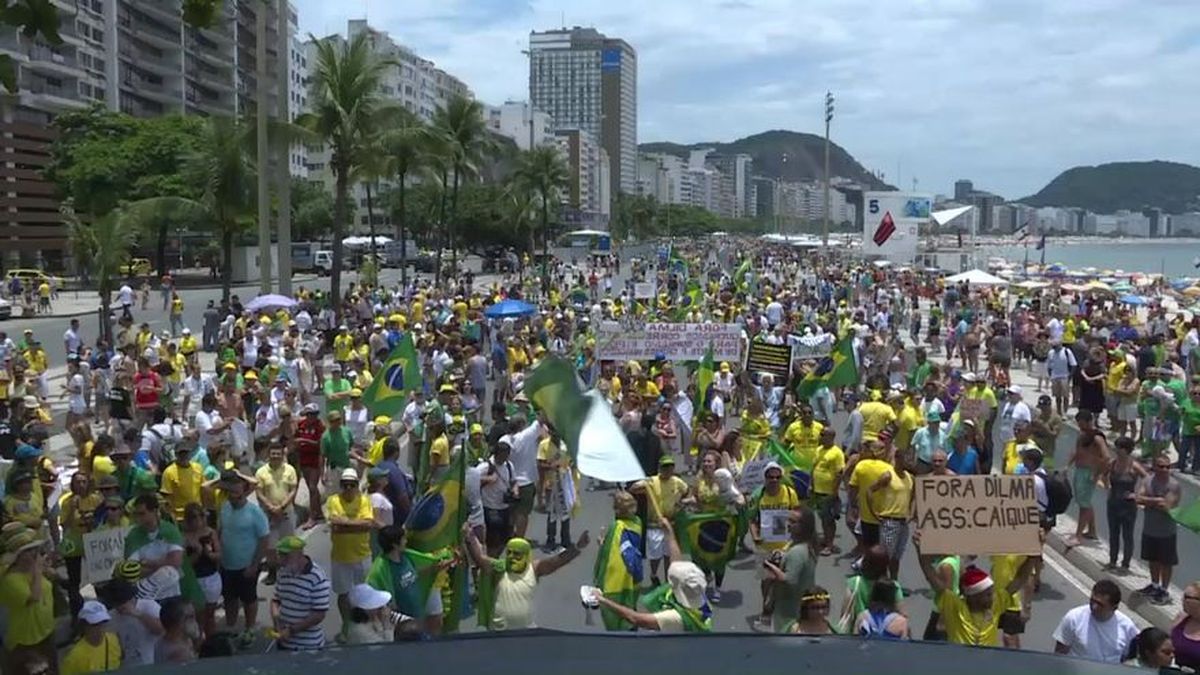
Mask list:
[[371,498],[359,489],[359,474],[353,468],[341,471],[341,490],[325,501],[325,514],[332,538],[330,581],[342,615],[342,634],[349,625],[349,592],[366,581],[371,571],[371,530],[374,509]]

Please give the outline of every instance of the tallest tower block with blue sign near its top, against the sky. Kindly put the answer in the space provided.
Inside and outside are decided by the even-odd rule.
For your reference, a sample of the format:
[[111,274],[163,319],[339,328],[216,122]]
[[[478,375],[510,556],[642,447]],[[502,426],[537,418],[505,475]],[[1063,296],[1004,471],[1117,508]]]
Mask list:
[[592,28],[529,34],[529,100],[600,139],[613,195],[637,191],[637,53]]

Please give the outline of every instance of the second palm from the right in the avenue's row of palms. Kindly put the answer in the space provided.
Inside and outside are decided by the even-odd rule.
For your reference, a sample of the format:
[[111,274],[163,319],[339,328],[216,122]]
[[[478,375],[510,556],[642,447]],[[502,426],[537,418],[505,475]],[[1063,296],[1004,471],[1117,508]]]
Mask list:
[[494,148],[494,141],[484,121],[484,104],[462,95],[451,97],[445,107],[433,112],[433,127],[446,143],[450,169],[450,264],[458,269],[458,238],[455,233],[458,217],[458,186],[479,173],[479,165]]

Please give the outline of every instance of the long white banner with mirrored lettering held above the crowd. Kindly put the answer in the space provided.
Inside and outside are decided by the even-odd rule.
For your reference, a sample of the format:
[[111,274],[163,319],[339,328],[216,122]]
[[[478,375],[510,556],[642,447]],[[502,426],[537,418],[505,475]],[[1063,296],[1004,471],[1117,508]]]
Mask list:
[[713,346],[718,362],[742,363],[742,327],[736,323],[646,323],[623,325],[606,321],[596,327],[596,357],[601,360],[653,359],[698,362]]

